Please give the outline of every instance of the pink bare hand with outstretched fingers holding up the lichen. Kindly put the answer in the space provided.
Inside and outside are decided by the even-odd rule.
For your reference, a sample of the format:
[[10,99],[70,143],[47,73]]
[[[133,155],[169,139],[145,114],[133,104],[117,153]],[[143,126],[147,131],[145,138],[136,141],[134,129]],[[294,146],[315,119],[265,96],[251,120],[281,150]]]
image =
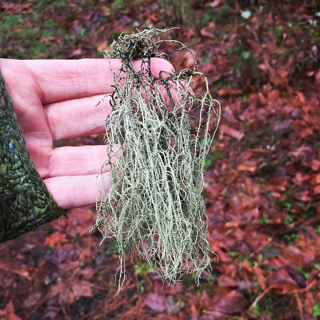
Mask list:
[[[0,59],[31,160],[62,209],[96,203],[96,178],[106,161],[106,146],[53,148],[53,142],[105,133],[110,98],[98,102],[113,91],[113,71],[121,65],[118,59]],[[133,61],[133,66],[141,68],[141,62]],[[151,58],[151,70],[158,76],[173,67]]]

